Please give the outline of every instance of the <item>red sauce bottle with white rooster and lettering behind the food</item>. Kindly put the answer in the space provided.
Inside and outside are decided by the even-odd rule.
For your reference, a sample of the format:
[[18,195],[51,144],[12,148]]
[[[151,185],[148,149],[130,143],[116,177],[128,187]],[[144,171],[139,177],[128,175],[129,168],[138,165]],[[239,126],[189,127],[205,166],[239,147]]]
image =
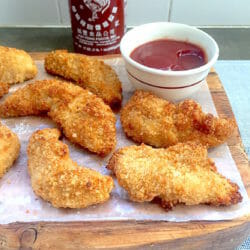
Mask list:
[[124,0],[69,0],[69,8],[77,53],[120,53],[125,32]]

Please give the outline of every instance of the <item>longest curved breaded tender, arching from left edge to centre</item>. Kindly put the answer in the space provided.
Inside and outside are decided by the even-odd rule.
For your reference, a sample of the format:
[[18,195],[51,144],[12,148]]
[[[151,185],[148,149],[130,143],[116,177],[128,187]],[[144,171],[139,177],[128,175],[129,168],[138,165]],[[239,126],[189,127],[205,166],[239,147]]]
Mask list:
[[105,156],[116,145],[116,118],[101,98],[72,83],[43,80],[28,84],[0,104],[1,117],[47,113],[70,141]]

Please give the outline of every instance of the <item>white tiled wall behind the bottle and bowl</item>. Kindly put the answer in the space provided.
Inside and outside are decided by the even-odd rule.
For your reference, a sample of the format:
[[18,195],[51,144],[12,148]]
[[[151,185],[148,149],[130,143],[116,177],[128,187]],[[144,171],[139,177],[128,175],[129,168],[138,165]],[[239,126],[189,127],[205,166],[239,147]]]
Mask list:
[[[250,26],[250,0],[127,0],[127,25]],[[69,26],[68,0],[0,0],[0,26]]]

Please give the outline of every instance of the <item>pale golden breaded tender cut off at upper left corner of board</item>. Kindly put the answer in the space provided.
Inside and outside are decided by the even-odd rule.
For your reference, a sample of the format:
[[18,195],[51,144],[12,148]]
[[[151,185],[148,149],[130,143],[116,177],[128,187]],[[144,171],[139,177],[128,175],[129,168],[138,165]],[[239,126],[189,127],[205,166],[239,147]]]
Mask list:
[[24,50],[0,46],[0,82],[14,84],[32,79],[37,67]]

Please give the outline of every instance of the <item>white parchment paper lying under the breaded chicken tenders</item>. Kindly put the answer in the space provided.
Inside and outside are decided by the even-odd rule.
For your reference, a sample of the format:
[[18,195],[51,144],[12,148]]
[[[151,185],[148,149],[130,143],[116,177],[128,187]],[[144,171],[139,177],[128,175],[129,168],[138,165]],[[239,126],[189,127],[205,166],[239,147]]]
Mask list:
[[[124,64],[121,59],[106,60],[118,73],[123,87],[123,105],[133,93],[133,87],[129,83]],[[43,68],[43,61],[36,61],[39,69],[37,79],[52,78]],[[32,80],[33,81],[33,80]],[[24,84],[15,85],[10,93]],[[198,101],[205,112],[216,115],[216,109],[212,101],[207,84],[204,84],[193,97]],[[242,183],[239,171],[232,159],[226,144],[209,151],[209,157],[214,159],[221,174],[237,183],[243,201],[230,207],[210,207],[205,205],[184,206],[178,205],[172,211],[166,212],[157,204],[134,203],[129,201],[126,192],[117,184],[112,191],[111,198],[104,204],[91,206],[85,209],[57,209],[50,203],[38,198],[32,191],[30,178],[27,172],[26,147],[30,135],[42,128],[56,127],[46,117],[18,117],[2,119],[21,141],[21,153],[15,165],[0,180],[0,224],[16,221],[93,221],[93,220],[164,220],[164,221],[190,221],[190,220],[229,220],[243,216],[250,211],[250,202]],[[127,139],[117,115],[117,148],[134,144]],[[70,148],[70,155],[78,164],[93,168],[102,174],[110,174],[105,168],[108,159],[100,158],[94,154],[74,146],[67,139],[65,143]]]

